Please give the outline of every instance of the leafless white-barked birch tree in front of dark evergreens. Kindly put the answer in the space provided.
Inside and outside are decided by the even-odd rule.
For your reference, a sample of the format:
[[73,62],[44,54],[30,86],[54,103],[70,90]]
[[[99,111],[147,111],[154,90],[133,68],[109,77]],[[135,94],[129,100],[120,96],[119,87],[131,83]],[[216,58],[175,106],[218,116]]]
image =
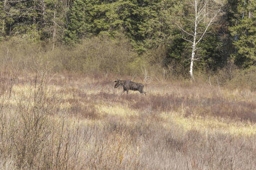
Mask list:
[[194,63],[201,58],[196,56],[196,50],[199,49],[197,46],[220,13],[221,4],[210,0],[189,0],[186,5],[191,14],[184,16],[183,21],[189,24],[185,25],[180,20],[176,25],[182,32],[182,38],[192,44],[189,74],[191,79],[195,80],[193,76]]

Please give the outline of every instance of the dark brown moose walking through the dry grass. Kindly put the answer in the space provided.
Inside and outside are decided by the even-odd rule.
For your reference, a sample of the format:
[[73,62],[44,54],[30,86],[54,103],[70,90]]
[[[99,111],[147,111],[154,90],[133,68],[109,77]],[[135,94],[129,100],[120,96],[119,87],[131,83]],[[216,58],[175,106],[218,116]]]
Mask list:
[[125,91],[128,94],[129,90],[133,90],[133,91],[139,91],[139,92],[141,92],[141,94],[146,95],[146,92],[143,91],[144,85],[142,83],[135,83],[135,82],[132,82],[131,80],[119,80],[119,79],[115,80],[114,82],[115,82],[114,88],[123,86],[122,94]]

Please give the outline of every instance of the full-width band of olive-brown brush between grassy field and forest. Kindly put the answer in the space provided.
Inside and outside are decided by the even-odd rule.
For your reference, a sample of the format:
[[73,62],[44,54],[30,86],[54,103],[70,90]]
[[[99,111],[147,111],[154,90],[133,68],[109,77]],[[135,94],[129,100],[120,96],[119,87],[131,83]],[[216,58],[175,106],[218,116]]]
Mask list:
[[[185,80],[187,70],[177,63],[165,63],[167,49],[163,46],[151,49],[139,56],[130,42],[123,36],[115,38],[106,36],[92,37],[82,40],[76,46],[59,46],[54,50],[51,45],[35,44],[13,37],[9,41],[0,42],[0,70],[13,76],[19,71],[35,73],[47,70],[51,73],[81,73],[94,76],[110,74],[134,79],[147,77],[166,80]],[[240,70],[229,62],[224,68],[214,73],[202,73],[195,70],[197,83],[209,83],[213,86],[232,89],[256,90],[255,67]]]

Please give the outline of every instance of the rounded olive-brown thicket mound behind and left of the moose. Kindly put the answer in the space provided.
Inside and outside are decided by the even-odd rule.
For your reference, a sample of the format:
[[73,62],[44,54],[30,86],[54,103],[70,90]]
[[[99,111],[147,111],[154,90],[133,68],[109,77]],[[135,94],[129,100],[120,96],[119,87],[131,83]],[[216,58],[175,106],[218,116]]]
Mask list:
[[93,37],[77,45],[72,52],[64,51],[63,65],[67,70],[90,73],[131,74],[129,63],[137,57],[124,37]]

